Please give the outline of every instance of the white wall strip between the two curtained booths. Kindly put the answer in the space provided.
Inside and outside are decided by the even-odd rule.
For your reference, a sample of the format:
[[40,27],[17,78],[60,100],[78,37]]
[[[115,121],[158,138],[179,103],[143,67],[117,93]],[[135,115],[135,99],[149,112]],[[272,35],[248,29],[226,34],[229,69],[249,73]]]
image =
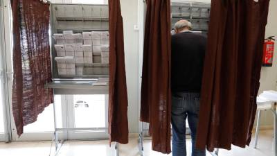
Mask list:
[[139,32],[134,31],[134,25],[137,25],[138,1],[120,0],[120,4],[124,26],[129,132],[137,133],[139,132]]

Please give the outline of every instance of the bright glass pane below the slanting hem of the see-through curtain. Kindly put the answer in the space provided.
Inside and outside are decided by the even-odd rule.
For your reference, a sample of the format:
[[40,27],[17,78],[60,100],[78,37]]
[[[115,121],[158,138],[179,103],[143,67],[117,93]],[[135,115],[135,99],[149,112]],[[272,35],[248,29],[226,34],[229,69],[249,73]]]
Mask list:
[[[62,107],[61,96],[55,96],[55,110],[57,117],[57,127],[62,127]],[[37,121],[24,127],[24,132],[53,132],[54,131],[54,114],[53,104],[48,105],[42,114],[39,114]]]

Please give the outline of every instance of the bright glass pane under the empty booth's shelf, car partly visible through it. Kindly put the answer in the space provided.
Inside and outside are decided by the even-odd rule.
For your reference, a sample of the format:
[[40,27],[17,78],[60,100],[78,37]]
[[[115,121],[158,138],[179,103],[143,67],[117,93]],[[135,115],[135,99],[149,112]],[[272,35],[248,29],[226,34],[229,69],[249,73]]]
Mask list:
[[74,96],[75,128],[105,128],[105,95]]

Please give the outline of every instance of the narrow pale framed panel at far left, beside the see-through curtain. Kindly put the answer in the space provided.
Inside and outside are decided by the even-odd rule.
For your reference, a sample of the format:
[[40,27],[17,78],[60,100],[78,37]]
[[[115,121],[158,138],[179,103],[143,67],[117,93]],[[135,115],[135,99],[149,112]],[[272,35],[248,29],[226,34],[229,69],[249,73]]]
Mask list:
[[10,141],[10,86],[11,44],[10,44],[10,6],[8,0],[0,0],[0,141]]

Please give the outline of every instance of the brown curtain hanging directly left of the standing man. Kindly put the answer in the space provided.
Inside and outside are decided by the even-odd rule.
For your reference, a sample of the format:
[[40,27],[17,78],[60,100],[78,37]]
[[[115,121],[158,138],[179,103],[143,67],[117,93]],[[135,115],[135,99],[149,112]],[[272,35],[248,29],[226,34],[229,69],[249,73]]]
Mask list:
[[150,123],[152,149],[170,153],[170,0],[148,0],[145,21],[141,121]]

